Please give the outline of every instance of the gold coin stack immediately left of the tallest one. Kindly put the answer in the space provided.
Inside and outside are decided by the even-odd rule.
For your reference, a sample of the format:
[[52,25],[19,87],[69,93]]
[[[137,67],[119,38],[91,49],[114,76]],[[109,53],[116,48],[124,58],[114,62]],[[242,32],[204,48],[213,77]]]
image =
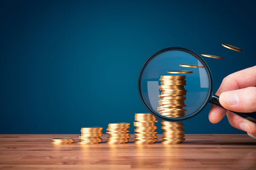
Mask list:
[[135,141],[134,143],[155,143],[157,141],[155,122],[156,117],[150,113],[135,113],[134,130]]

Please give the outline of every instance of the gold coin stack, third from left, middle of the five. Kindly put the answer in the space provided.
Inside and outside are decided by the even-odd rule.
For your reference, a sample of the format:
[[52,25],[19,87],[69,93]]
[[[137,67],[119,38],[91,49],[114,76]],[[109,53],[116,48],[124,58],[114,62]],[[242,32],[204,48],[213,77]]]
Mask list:
[[107,143],[127,143],[130,138],[130,123],[109,123]]

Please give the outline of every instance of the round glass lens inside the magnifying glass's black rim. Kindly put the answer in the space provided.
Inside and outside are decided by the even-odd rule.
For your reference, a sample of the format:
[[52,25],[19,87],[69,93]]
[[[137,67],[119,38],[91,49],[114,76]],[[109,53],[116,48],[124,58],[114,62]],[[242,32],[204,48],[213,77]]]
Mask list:
[[[182,64],[198,67],[184,67]],[[172,117],[173,120],[179,117],[186,120],[197,114],[211,92],[211,78],[205,67],[207,65],[195,54],[185,50],[165,50],[154,54],[142,67],[139,80],[144,105],[151,113]]]

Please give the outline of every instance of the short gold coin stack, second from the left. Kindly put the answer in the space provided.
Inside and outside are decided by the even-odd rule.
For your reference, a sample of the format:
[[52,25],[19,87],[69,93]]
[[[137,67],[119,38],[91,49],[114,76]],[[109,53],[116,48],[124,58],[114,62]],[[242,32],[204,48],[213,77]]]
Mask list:
[[81,129],[81,142],[80,144],[95,144],[102,142],[100,138],[102,136],[102,129],[101,127],[85,127]]

